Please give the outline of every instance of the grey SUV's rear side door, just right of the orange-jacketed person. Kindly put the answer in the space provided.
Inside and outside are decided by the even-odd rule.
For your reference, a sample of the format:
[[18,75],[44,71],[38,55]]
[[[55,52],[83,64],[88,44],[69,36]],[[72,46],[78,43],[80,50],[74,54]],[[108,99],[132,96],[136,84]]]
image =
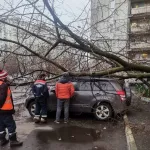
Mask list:
[[91,100],[93,99],[93,92],[91,91],[90,82],[78,82],[78,91],[76,90],[74,96],[70,101],[70,111],[73,112],[90,112]]

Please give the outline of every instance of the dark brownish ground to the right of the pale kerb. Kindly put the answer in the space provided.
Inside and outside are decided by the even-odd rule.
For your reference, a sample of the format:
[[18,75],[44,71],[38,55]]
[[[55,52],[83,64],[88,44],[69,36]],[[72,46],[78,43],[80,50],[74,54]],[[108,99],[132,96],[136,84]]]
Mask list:
[[138,150],[149,150],[150,102],[141,101],[134,96],[128,118]]

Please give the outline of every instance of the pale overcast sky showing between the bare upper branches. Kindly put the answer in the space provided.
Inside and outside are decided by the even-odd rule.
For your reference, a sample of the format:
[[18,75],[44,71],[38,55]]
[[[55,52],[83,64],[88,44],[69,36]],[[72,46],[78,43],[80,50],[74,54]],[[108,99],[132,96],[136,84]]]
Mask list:
[[[23,3],[28,3],[26,0],[0,0],[0,8],[4,8],[4,11],[7,11],[6,9],[11,9],[9,6],[9,3],[13,3],[13,7],[15,8],[20,2],[20,5]],[[31,0],[32,1],[32,0]],[[43,5],[43,0],[39,0],[38,4]],[[87,6],[88,4],[88,6]],[[83,9],[86,7],[84,13],[82,13]],[[55,10],[56,13],[59,15],[59,18],[64,24],[69,24],[70,22],[73,22],[78,18],[78,16],[82,13],[80,16],[80,19],[85,19],[87,17],[87,14],[90,10],[90,0],[55,0]],[[20,13],[23,13],[24,9],[20,8]],[[27,12],[30,10],[27,9]],[[31,11],[32,12],[32,11]],[[88,12],[88,13],[87,13]],[[2,14],[3,11],[0,12]],[[49,12],[47,11],[49,14]],[[89,16],[88,16],[89,17]],[[74,27],[81,27],[83,25],[82,21],[76,21],[75,23],[71,24]]]

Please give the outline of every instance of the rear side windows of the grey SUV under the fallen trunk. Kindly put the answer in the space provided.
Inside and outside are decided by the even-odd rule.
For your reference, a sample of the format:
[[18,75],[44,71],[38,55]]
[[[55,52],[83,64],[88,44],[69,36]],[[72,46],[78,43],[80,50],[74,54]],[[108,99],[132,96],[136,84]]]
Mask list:
[[108,81],[81,82],[80,91],[114,91],[114,87]]

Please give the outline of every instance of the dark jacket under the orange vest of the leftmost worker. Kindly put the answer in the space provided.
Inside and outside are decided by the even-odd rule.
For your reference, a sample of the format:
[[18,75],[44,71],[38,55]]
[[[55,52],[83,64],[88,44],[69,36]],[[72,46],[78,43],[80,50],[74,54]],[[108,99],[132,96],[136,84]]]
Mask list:
[[[0,85],[0,108],[3,107],[5,100],[7,98],[7,90],[8,90],[8,85],[7,83],[2,83]],[[13,103],[13,98],[12,99],[12,103]],[[0,109],[0,114],[14,114],[15,110],[14,110],[14,104],[13,104],[13,110],[1,110]]]

